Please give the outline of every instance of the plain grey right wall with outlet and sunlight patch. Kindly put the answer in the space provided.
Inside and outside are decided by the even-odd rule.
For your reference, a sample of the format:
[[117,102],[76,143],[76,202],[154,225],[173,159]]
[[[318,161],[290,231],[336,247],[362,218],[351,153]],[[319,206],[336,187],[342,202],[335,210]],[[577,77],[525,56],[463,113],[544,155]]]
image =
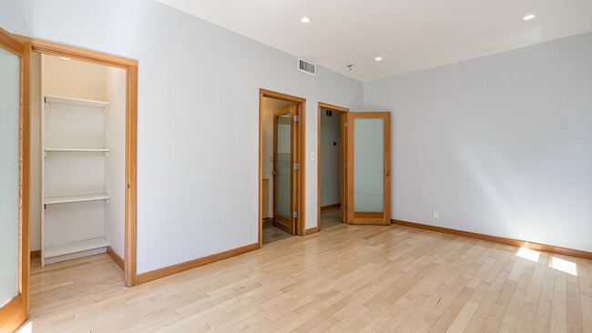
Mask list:
[[592,251],[592,34],[364,88],[393,113],[393,218]]

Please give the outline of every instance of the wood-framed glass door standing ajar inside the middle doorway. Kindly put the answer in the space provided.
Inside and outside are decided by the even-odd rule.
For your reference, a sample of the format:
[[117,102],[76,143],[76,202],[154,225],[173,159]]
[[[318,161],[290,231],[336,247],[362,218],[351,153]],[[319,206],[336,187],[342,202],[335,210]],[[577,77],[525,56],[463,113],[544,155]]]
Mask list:
[[273,225],[296,235],[296,105],[273,113]]

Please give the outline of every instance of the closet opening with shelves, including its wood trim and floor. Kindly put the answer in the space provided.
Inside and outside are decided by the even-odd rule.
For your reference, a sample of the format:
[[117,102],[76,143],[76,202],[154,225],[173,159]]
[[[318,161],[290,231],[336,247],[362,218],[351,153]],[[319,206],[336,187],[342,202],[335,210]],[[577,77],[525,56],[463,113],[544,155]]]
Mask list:
[[[46,283],[63,285],[52,296],[133,287],[138,62],[20,38],[33,51],[32,306],[43,307]],[[43,281],[63,267],[64,281]]]

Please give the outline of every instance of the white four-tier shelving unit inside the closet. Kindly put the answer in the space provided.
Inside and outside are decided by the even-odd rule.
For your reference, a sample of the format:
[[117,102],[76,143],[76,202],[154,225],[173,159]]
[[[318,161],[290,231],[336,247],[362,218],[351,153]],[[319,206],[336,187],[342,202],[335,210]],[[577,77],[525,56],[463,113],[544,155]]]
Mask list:
[[[41,263],[104,252],[108,102],[45,96]],[[98,252],[97,252],[98,251]]]

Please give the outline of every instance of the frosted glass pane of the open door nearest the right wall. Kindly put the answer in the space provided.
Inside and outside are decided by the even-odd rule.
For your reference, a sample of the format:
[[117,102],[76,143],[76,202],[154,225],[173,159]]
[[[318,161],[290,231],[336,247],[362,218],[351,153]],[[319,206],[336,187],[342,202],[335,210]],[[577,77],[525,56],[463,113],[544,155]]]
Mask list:
[[384,120],[353,121],[353,210],[384,211]]

